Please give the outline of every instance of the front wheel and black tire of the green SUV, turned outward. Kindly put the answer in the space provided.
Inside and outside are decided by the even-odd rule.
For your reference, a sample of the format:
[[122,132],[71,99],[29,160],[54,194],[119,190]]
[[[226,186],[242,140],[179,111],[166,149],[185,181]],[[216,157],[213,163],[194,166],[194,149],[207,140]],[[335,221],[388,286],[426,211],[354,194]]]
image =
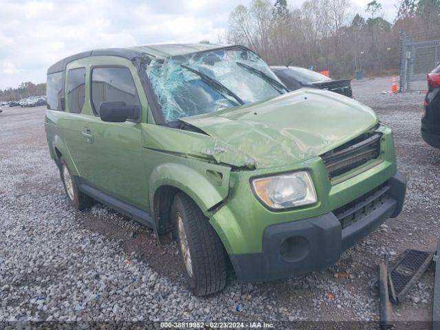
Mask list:
[[196,203],[182,192],[174,197],[171,217],[192,293],[206,296],[221,291],[226,284],[226,255],[217,232]]

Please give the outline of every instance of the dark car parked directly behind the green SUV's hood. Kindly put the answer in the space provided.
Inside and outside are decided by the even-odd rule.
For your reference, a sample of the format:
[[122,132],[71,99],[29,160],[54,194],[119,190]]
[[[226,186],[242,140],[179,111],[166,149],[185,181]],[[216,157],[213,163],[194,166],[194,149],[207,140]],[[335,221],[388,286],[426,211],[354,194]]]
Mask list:
[[319,72],[314,72],[303,67],[270,67],[276,76],[286,85],[295,91],[302,87],[320,88],[334,91],[344,96],[353,97],[351,90],[351,80],[333,80]]

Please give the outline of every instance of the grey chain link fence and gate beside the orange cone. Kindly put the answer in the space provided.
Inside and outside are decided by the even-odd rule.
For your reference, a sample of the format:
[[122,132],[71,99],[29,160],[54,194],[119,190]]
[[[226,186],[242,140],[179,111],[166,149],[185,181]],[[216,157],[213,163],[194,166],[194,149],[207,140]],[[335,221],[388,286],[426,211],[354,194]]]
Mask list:
[[408,36],[400,32],[400,91],[426,91],[426,74],[440,62],[440,32]]

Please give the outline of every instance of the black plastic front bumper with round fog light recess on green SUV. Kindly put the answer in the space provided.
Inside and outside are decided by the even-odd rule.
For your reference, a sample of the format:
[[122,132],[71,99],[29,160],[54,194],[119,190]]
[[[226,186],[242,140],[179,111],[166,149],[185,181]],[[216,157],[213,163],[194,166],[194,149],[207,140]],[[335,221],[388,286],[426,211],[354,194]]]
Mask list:
[[[388,217],[397,217],[405,192],[406,179],[397,173],[388,181],[380,203],[373,201],[369,212],[356,211],[362,216],[345,228],[333,212],[270,225],[263,232],[263,252],[230,254],[236,275],[246,282],[269,281],[329,267]],[[362,208],[364,211],[367,206]]]

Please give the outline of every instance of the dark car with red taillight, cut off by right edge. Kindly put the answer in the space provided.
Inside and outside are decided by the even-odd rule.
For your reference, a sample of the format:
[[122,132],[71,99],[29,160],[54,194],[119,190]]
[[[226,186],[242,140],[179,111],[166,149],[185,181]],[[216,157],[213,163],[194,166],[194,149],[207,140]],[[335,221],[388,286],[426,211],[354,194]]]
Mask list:
[[428,74],[425,113],[421,118],[421,137],[430,146],[440,148],[440,65]]

